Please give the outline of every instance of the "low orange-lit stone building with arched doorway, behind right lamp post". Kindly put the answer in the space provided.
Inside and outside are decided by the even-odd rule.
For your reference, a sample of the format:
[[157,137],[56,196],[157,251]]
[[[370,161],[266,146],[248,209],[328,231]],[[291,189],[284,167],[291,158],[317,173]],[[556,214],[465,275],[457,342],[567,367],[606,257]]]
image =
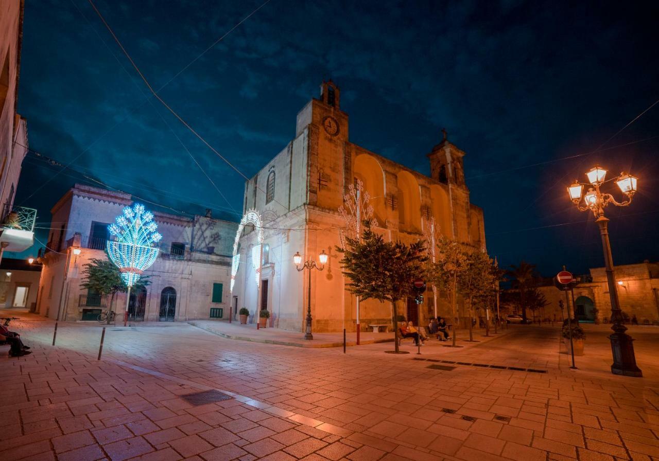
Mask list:
[[[614,268],[620,308],[639,324],[659,325],[659,263],[643,261],[639,264],[618,265]],[[611,299],[604,267],[590,269],[589,275],[577,277],[575,302],[568,296],[569,308],[581,321],[608,323],[611,319]],[[553,285],[538,288],[549,303],[539,317],[561,318],[559,300],[565,304],[565,293]],[[530,317],[530,313],[527,313]],[[563,312],[563,315],[567,315]]]

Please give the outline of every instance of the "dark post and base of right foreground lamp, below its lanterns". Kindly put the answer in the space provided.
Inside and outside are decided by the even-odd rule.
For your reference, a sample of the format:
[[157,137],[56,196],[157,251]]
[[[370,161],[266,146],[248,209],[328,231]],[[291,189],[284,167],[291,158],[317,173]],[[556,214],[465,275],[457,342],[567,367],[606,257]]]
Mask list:
[[614,331],[609,337],[614,357],[611,372],[616,375],[643,377],[643,371],[641,371],[636,365],[633,344],[634,340],[631,336],[625,333],[627,327],[623,325],[622,310],[620,309],[620,301],[617,295],[616,276],[614,274],[614,261],[611,254],[611,244],[609,242],[608,221],[608,218],[602,214],[595,222],[600,227],[600,234],[602,236],[606,281],[608,282],[609,296],[611,299],[611,320],[613,323],[611,329]]

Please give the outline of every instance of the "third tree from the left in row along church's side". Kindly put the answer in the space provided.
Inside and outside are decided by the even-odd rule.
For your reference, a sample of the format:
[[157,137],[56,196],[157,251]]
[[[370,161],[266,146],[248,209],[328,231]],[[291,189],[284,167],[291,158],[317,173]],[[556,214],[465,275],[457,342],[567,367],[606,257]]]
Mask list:
[[465,269],[457,277],[458,290],[469,306],[469,340],[474,340],[473,316],[474,304],[487,306],[495,293],[496,279],[492,271],[492,259],[485,252],[478,250],[465,252]]

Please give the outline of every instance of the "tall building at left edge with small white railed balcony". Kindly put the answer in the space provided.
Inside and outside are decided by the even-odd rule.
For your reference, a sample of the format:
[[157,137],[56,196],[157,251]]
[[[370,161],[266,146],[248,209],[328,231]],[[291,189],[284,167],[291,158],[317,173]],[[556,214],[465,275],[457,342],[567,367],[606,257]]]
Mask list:
[[18,176],[28,152],[27,124],[16,113],[23,1],[0,4],[0,259],[3,252],[22,252],[34,243],[36,210],[14,207]]

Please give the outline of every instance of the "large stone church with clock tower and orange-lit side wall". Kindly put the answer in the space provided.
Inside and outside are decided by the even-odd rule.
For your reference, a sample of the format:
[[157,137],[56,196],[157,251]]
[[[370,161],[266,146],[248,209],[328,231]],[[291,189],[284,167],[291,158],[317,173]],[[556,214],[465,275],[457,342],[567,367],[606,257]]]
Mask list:
[[[444,134],[427,155],[430,176],[386,159],[349,141],[349,117],[340,96],[333,82],[324,82],[320,97],[298,113],[295,138],[245,183],[246,225],[237,235],[233,259],[234,315],[244,307],[255,322],[265,309],[271,327],[303,331],[310,298],[313,331],[355,331],[356,299],[345,289],[335,247],[345,225],[338,209],[357,180],[370,194],[377,230],[387,240],[422,239],[434,217],[445,236],[485,248],[482,209],[470,202],[465,184],[465,152]],[[323,251],[328,261],[322,271],[312,269],[310,277],[298,271],[296,252],[320,265]],[[426,294],[421,321],[434,313],[432,298]],[[449,311],[438,304],[440,315]],[[398,312],[416,323],[416,304],[401,303]],[[360,303],[362,330],[390,319],[390,303]]]

